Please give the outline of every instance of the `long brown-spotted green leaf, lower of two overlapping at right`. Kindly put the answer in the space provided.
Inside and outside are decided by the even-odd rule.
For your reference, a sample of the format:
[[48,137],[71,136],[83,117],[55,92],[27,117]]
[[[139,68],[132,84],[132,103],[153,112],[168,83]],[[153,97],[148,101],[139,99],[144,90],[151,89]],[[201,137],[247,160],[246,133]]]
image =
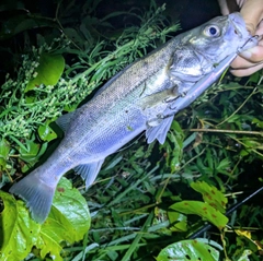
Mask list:
[[228,223],[228,218],[207,202],[204,203],[201,201],[185,200],[171,205],[170,209],[184,214],[198,215],[217,226],[219,229],[222,229]]

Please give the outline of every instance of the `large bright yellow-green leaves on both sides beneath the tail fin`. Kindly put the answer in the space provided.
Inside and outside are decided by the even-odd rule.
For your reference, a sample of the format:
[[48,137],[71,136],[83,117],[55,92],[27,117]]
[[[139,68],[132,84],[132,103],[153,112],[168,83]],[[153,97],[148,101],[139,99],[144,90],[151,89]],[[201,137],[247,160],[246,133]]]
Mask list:
[[0,215],[0,260],[23,260],[35,246],[41,258],[49,253],[53,260],[62,261],[61,244],[79,241],[90,227],[87,202],[66,178],[58,183],[50,214],[43,225],[30,217],[23,201],[2,191],[0,197],[4,204]]

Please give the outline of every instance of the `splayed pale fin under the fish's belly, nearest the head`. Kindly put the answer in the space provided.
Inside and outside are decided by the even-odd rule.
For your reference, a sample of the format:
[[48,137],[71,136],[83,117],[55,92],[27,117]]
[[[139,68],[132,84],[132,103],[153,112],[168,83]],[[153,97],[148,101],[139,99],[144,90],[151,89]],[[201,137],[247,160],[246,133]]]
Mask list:
[[146,130],[146,139],[148,143],[158,140],[161,144],[164,143],[167,133],[173,121],[173,116],[162,119],[161,123],[156,127],[150,127]]

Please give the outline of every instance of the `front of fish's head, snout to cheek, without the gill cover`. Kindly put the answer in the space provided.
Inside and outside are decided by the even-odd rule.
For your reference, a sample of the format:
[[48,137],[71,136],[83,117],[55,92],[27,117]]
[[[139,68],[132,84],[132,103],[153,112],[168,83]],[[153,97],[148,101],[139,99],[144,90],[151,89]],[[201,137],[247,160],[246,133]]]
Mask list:
[[255,45],[240,13],[215,17],[191,32],[188,48],[207,63],[218,63],[239,48]]

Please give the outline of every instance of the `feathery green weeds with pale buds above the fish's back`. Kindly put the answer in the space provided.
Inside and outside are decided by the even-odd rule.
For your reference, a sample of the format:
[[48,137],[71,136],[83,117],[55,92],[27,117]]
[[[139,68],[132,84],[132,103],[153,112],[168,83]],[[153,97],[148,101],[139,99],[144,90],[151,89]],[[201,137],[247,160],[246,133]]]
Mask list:
[[[174,25],[161,29],[163,9],[153,10],[152,7],[150,14],[140,17],[140,28],[129,27],[112,41],[102,39],[83,50],[72,50],[70,43],[65,39],[69,36],[64,35],[61,39],[55,38],[50,46],[44,44],[38,49],[33,47],[28,55],[23,56],[16,80],[8,75],[0,93],[0,134],[5,144],[0,169],[7,171],[9,179],[15,171],[16,162],[12,161],[16,155],[14,152],[24,155],[20,158],[23,159],[20,164],[26,165],[22,170],[27,170],[45,152],[47,143],[37,141],[34,135],[36,130],[43,141],[55,139],[57,135],[49,128],[50,121],[64,110],[76,109],[105,79],[144,56],[147,46],[155,47],[155,39],[164,41],[165,35],[178,28]],[[65,66],[59,55],[61,52],[76,52],[79,59],[66,68],[62,76]],[[21,142],[18,138],[26,140]],[[31,165],[27,166],[27,163]],[[3,178],[0,186],[5,181]]]

